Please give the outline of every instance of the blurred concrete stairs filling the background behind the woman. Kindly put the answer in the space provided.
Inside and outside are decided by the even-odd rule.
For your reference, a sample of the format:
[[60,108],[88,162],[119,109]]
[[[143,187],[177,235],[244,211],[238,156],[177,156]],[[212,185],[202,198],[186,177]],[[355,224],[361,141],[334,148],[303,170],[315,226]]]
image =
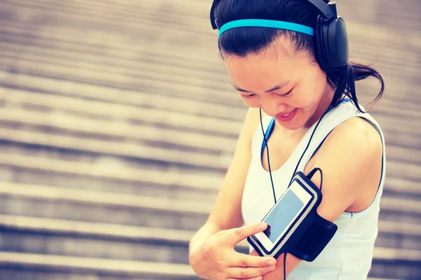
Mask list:
[[[388,162],[370,280],[419,280],[421,8],[409,1],[389,26],[392,2],[340,4],[351,50],[381,54],[387,78],[373,112]],[[209,6],[0,1],[0,279],[198,279],[188,241],[246,113],[218,64]]]

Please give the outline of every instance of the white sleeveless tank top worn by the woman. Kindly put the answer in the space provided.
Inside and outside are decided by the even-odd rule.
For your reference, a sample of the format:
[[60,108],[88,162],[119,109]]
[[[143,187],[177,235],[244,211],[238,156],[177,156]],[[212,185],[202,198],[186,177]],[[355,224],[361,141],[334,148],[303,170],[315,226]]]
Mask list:
[[[361,107],[362,108],[362,107]],[[366,210],[359,213],[344,212],[334,221],[338,231],[313,262],[302,260],[287,277],[288,280],[366,280],[373,258],[373,248],[377,237],[377,221],[380,211],[380,197],[385,181],[385,140],[377,122],[368,114],[361,113],[347,98],[334,109],[326,113],[314,132],[314,124],[286,163],[276,171],[272,171],[272,179],[276,193],[276,200],[285,192],[309,138],[314,132],[307,152],[302,157],[297,171],[304,172],[307,162],[323,143],[328,134],[340,123],[349,118],[359,116],[368,120],[380,133],[383,144],[382,176],[377,195]],[[265,116],[262,120],[264,127],[273,127],[274,120]],[[270,129],[269,129],[270,130]],[[268,130],[267,130],[268,131]],[[270,134],[270,133],[267,133]],[[244,186],[241,211],[246,225],[258,223],[273,207],[274,196],[269,172],[262,167],[263,135],[260,125],[255,131],[251,152],[252,160]],[[270,149],[270,146],[269,146]],[[253,248],[250,246],[250,251]]]

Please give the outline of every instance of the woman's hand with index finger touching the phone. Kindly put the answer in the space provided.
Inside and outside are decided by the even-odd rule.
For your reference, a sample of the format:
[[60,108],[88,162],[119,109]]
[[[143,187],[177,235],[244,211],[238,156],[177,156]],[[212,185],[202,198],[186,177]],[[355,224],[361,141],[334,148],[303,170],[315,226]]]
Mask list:
[[262,275],[276,267],[270,257],[245,255],[234,246],[250,235],[267,228],[265,223],[246,225],[241,228],[222,230],[209,237],[189,255],[194,272],[203,279],[212,280],[260,280]]

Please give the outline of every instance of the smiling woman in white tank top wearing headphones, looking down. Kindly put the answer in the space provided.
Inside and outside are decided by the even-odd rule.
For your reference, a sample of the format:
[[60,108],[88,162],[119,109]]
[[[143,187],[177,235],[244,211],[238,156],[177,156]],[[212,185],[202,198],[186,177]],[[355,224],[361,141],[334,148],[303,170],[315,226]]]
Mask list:
[[[283,279],[284,273],[291,280],[367,278],[385,178],[385,142],[359,105],[354,82],[379,79],[376,100],[384,82],[372,67],[347,60],[345,25],[332,18],[332,11],[335,5],[323,0],[213,3],[220,55],[250,109],[215,207],[189,245],[190,265],[204,279]],[[333,28],[337,31],[330,38]],[[259,222],[291,176],[315,167],[323,171],[317,212],[338,225],[316,260],[290,254],[275,260],[251,247],[250,255],[236,253],[239,241],[266,229]],[[312,181],[320,187],[320,174]]]

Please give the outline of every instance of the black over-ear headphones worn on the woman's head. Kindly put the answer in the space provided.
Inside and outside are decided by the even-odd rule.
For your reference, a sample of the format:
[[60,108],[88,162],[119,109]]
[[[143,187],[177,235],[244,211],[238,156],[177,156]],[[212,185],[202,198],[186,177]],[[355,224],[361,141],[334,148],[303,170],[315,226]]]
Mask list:
[[[213,0],[210,8],[210,23],[213,29],[218,29],[215,23],[215,8],[220,0]],[[316,59],[324,71],[335,71],[348,62],[348,37],[345,21],[338,16],[335,1],[306,0],[317,10],[316,26],[314,27],[314,45]]]

